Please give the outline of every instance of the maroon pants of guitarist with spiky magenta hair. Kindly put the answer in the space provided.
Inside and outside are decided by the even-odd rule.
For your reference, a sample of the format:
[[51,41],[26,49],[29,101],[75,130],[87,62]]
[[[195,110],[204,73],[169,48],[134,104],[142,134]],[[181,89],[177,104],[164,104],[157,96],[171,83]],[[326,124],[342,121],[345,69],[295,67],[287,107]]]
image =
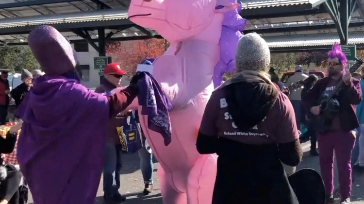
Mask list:
[[319,134],[317,137],[320,152],[321,176],[325,184],[326,194],[332,194],[334,152],[339,172],[340,194],[343,198],[351,193],[351,150],[354,148],[355,137],[350,132],[331,131]]

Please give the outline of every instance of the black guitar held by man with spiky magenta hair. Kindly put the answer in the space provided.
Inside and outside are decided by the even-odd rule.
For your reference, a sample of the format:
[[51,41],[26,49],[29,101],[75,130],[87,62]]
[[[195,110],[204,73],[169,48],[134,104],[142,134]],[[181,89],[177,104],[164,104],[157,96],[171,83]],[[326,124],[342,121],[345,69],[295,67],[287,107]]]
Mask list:
[[[355,58],[355,60],[356,63],[349,68],[350,73],[355,72],[364,63],[362,58]],[[318,132],[326,132],[330,130],[332,120],[340,110],[340,104],[337,100],[337,96],[343,85],[344,81],[341,79],[329,96],[321,102],[320,114],[318,116],[313,115]]]

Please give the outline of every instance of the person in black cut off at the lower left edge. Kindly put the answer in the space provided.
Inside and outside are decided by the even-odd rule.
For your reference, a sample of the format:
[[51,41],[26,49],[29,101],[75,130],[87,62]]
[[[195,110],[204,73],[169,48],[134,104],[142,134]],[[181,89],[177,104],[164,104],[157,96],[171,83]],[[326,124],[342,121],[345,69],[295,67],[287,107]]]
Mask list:
[[[19,122],[11,127],[5,138],[0,136],[0,153],[13,152],[21,125]],[[2,159],[0,162],[2,164]],[[21,177],[21,172],[15,168],[0,166],[0,204],[18,204]]]

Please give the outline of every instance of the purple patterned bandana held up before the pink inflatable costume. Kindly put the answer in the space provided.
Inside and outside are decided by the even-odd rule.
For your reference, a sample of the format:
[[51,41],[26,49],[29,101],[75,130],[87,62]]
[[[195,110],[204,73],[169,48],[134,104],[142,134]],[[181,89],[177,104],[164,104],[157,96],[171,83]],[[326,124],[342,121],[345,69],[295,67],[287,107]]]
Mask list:
[[142,106],[141,114],[148,116],[148,128],[160,133],[165,140],[165,146],[168,146],[172,135],[168,111],[172,109],[172,103],[149,72],[143,71],[140,74],[143,77],[138,80],[137,86],[139,105]]

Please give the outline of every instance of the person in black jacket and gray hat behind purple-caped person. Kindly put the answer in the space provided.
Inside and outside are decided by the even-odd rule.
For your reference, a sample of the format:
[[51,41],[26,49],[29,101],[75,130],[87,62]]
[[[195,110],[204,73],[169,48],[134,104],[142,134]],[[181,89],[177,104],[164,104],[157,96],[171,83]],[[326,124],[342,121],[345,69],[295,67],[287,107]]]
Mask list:
[[32,87],[32,80],[32,73],[27,69],[23,69],[21,72],[21,81],[23,81],[23,83],[18,85],[10,92],[10,95],[14,99],[15,105],[17,107],[19,106],[20,102],[23,101],[24,97],[29,92],[29,89]]

